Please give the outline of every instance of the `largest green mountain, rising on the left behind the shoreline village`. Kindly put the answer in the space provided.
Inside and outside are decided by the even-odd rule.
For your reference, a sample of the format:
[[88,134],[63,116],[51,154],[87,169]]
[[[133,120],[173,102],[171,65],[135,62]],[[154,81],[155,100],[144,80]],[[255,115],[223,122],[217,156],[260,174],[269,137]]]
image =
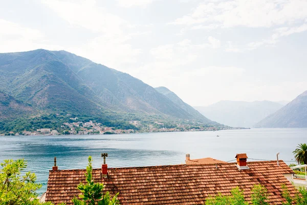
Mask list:
[[[67,113],[109,120],[211,122],[127,73],[66,51],[0,53],[0,91],[23,102],[20,112],[29,111],[28,115]],[[18,118],[17,113],[6,110],[3,118]]]

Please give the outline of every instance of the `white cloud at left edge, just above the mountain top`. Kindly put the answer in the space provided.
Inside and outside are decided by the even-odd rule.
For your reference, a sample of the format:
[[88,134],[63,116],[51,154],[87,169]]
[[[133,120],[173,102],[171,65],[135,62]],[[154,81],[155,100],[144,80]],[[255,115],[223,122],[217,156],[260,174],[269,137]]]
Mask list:
[[35,49],[61,50],[45,40],[45,35],[37,30],[0,19],[0,52],[29,51]]

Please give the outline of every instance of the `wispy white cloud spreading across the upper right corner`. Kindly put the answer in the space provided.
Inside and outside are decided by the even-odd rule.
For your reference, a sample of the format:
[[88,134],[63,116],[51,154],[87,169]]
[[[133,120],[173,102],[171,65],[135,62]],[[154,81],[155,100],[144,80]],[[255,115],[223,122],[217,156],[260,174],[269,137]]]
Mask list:
[[[307,30],[307,1],[305,0],[232,0],[204,1],[190,14],[177,18],[168,24],[185,26],[179,35],[187,30],[212,30],[217,28],[249,27],[275,29],[267,39],[255,39],[247,48],[252,50],[260,46],[273,46],[282,36]],[[300,26],[297,26],[301,24]],[[256,36],[255,36],[256,38]],[[217,44],[218,45],[218,44]],[[215,47],[216,48],[216,47]],[[238,52],[237,48],[225,49],[228,52]]]

